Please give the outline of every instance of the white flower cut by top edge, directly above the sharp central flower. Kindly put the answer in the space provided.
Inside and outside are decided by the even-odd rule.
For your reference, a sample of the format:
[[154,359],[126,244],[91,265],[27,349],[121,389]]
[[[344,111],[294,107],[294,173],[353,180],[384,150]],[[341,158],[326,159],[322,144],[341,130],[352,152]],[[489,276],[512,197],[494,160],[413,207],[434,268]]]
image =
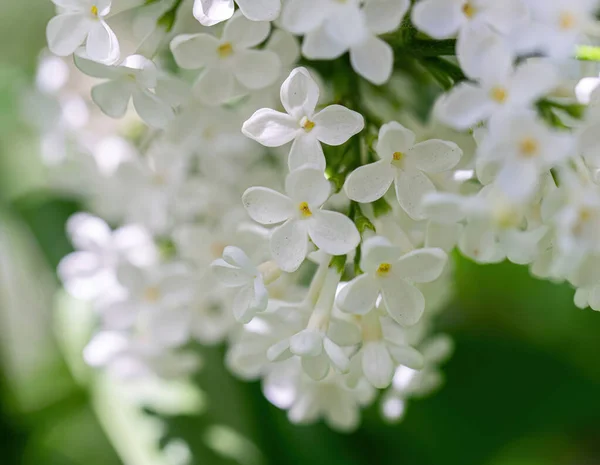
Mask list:
[[310,59],[334,59],[350,52],[352,68],[375,85],[392,74],[394,52],[377,36],[395,31],[408,11],[407,0],[291,0],[283,24],[305,34],[302,54]]

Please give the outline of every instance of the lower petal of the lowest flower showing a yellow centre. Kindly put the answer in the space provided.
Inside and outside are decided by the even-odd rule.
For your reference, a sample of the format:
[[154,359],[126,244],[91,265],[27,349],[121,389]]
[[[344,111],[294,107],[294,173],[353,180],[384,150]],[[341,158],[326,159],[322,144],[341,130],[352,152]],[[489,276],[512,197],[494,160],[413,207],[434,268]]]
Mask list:
[[417,324],[425,311],[425,298],[421,291],[395,276],[393,269],[379,282],[383,304],[390,316],[402,326]]

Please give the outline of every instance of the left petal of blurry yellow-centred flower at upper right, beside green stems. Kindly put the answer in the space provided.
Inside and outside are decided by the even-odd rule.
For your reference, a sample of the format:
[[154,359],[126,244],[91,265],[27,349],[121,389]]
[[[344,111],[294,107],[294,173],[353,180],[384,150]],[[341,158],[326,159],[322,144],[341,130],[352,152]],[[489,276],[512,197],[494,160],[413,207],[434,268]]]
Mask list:
[[464,131],[485,121],[494,110],[487,92],[468,82],[461,82],[436,106],[436,116],[456,130]]

